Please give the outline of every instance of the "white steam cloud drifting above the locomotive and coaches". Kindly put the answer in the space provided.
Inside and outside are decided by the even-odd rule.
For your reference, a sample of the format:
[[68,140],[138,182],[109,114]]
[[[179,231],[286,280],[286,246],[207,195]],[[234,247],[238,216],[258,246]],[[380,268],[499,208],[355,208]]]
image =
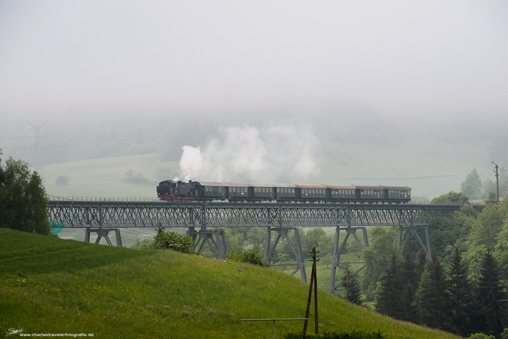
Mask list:
[[201,149],[185,145],[180,175],[186,180],[277,181],[277,177],[309,177],[317,172],[319,140],[305,127],[293,125],[231,126],[219,130]]

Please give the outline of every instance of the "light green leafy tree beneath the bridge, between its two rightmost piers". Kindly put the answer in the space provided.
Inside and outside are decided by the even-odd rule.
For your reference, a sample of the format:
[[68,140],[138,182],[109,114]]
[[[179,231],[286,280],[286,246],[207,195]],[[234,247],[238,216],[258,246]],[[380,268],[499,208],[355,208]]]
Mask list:
[[377,226],[372,230],[369,246],[363,250],[365,268],[362,271],[361,287],[365,294],[372,293],[377,282],[390,266],[392,254],[401,256],[397,248],[397,231],[394,228]]

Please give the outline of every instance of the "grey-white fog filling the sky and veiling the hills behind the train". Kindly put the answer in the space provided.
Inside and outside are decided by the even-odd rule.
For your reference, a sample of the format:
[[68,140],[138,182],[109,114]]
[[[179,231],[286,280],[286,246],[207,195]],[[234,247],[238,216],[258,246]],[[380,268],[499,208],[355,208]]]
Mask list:
[[423,152],[419,177],[485,177],[508,166],[507,17],[504,1],[0,0],[0,147],[32,161],[13,138],[49,120],[45,164],[161,153],[181,178],[361,181],[389,176],[367,155],[384,145]]

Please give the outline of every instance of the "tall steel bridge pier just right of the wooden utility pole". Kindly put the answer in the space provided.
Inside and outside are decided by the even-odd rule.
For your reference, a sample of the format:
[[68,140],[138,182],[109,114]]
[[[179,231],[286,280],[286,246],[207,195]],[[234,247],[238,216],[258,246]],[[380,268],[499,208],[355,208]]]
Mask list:
[[[344,270],[342,268],[342,266],[340,266],[341,264],[345,264],[345,262],[340,262],[340,254],[342,253],[342,250],[344,250],[347,238],[350,235],[353,235],[353,237],[355,238],[358,246],[360,246],[361,250],[363,250],[364,248],[369,246],[369,239],[367,237],[367,228],[365,226],[357,226],[357,227],[342,228],[342,230],[346,231],[346,236],[344,237],[344,240],[342,240],[342,243],[341,243],[340,248],[339,248],[339,234],[340,234],[340,230],[341,230],[341,228],[339,226],[337,226],[335,228],[335,240],[334,240],[334,243],[333,243],[333,264],[332,264],[332,271],[331,271],[331,274],[330,274],[330,289],[329,289],[330,293],[343,292],[344,291],[344,290],[340,289],[340,286],[342,286],[342,282],[340,282],[338,285],[335,285],[335,275],[336,275],[336,272],[337,272],[337,268],[341,269],[342,271]],[[360,239],[358,239],[358,236],[356,235],[356,231],[357,230],[362,230],[362,233],[363,233],[363,245],[362,245]],[[363,261],[362,262],[350,262],[350,264],[365,264],[365,262],[363,262]],[[364,267],[365,267],[365,265],[360,267],[355,272],[355,274],[360,272]]]

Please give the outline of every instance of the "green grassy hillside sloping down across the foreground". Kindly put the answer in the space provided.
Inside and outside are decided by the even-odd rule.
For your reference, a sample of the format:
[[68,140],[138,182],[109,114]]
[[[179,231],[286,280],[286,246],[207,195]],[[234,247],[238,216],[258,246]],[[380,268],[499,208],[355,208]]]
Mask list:
[[[172,251],[135,251],[0,229],[0,333],[99,338],[270,338],[302,318],[308,285],[287,274]],[[392,338],[453,338],[319,291],[322,330],[380,329]],[[300,331],[278,322],[277,333]],[[313,320],[309,328],[313,328]],[[16,337],[16,335],[10,336]]]

